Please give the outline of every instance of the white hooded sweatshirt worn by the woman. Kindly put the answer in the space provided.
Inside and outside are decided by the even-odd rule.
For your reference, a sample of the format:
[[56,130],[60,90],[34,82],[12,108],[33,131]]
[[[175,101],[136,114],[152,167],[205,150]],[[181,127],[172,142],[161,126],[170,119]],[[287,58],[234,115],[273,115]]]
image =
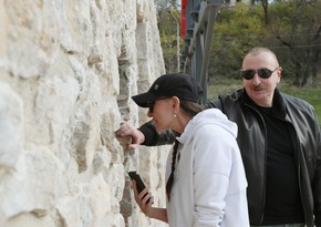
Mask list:
[[[179,141],[167,200],[170,227],[248,227],[247,180],[236,142],[237,125],[217,109],[200,112]],[[166,182],[173,151],[168,155]],[[177,156],[177,157],[178,157]]]

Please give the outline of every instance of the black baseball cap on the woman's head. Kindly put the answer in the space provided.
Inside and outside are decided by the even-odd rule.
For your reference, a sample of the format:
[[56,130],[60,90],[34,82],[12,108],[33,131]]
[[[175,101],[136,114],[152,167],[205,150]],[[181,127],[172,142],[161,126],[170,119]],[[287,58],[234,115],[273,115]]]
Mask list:
[[164,96],[177,96],[179,100],[196,103],[203,96],[203,89],[196,79],[188,74],[168,73],[156,79],[147,92],[134,95],[132,99],[141,107],[148,107],[149,102]]

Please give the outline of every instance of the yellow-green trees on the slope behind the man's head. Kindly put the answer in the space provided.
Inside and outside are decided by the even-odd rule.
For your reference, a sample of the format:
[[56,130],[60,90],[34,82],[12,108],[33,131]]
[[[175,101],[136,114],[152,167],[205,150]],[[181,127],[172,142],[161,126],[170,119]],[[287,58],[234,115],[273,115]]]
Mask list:
[[[267,7],[267,6],[266,6]],[[244,54],[253,47],[272,49],[283,75],[303,86],[317,82],[321,50],[320,1],[290,1],[261,6],[236,4],[221,10],[215,24],[209,76],[239,76]]]

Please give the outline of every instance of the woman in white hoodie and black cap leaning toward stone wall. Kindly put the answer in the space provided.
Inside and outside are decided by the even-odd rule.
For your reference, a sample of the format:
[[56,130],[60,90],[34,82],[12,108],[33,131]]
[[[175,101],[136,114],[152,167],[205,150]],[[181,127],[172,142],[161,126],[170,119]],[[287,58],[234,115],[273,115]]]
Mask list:
[[158,132],[173,130],[177,137],[166,167],[166,208],[153,207],[145,188],[135,199],[151,218],[170,227],[247,227],[247,180],[236,142],[237,126],[216,109],[197,102],[201,87],[187,74],[158,78],[146,93],[133,96],[149,107]]

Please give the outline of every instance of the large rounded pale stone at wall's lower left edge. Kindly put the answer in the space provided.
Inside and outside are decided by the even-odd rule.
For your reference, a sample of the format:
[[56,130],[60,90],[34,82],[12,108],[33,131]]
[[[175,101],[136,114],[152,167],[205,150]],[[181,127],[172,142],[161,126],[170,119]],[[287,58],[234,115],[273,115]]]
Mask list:
[[45,216],[62,195],[63,166],[45,147],[24,151],[15,171],[2,177],[0,209],[6,218],[22,213]]

